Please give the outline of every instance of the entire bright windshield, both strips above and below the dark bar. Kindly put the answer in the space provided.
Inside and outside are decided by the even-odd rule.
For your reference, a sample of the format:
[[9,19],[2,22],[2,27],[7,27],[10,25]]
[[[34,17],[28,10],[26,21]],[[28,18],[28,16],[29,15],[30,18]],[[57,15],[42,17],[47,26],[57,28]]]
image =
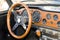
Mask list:
[[[25,4],[60,4],[60,0],[11,0],[13,3],[24,2]],[[58,11],[60,6],[39,6],[42,10]]]

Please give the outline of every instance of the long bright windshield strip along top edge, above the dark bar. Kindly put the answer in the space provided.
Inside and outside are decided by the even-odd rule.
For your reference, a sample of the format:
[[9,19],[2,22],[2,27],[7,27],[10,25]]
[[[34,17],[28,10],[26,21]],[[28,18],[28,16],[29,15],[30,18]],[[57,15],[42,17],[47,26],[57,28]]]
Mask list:
[[13,3],[24,2],[25,4],[60,4],[60,0],[11,0]]

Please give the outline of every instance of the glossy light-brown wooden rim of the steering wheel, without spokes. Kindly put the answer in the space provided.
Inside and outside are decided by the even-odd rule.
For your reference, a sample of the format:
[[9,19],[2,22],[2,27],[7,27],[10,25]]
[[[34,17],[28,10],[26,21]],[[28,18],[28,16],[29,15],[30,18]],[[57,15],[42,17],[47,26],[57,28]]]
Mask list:
[[[18,6],[18,5],[22,5],[23,7],[25,7],[25,9],[26,9],[27,12],[28,12],[28,16],[29,16],[28,28],[26,29],[26,32],[25,32],[23,35],[21,35],[21,36],[15,35],[15,34],[12,32],[12,30],[11,30],[11,25],[10,25],[10,17],[11,17],[11,14],[12,14],[11,11],[12,11],[12,9],[14,9],[14,8],[15,8],[16,6]],[[13,4],[13,5],[11,6],[11,8],[9,9],[8,14],[7,14],[7,28],[8,28],[9,33],[10,33],[14,38],[22,39],[22,38],[26,37],[27,34],[29,33],[30,28],[31,28],[31,24],[32,24],[32,17],[31,17],[31,12],[30,12],[28,6],[26,6],[24,3],[21,3],[21,2],[20,2],[20,3]]]

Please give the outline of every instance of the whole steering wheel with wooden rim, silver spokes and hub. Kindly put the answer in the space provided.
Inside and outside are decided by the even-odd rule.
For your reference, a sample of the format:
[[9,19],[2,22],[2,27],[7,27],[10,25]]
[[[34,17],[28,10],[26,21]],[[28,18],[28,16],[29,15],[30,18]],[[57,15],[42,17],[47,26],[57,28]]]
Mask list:
[[[27,27],[25,33],[23,33],[22,35],[19,35],[19,36],[17,36],[17,35],[12,31],[11,23],[10,23],[10,22],[11,22],[10,18],[11,18],[11,15],[12,15],[11,11],[12,11],[16,6],[23,6],[23,7],[26,9],[26,11],[27,11],[27,13],[28,13],[28,18],[29,18],[29,20],[28,20],[28,27]],[[14,13],[14,14],[15,14],[15,13]],[[15,14],[15,15],[16,15],[16,14]],[[17,16],[16,16],[16,17],[17,17]],[[18,18],[19,18],[19,19],[18,19]],[[22,24],[23,26],[25,26],[25,24],[24,24],[24,17],[20,15],[20,17],[18,17],[18,18],[17,18],[18,21],[17,21],[17,23],[16,23],[15,25],[18,26],[19,24]],[[23,19],[23,20],[22,20],[22,19]],[[29,10],[29,8],[28,8],[27,5],[25,5],[24,3],[21,3],[21,2],[20,2],[20,3],[13,4],[13,5],[10,7],[10,9],[8,10],[8,14],[7,14],[7,28],[8,28],[9,33],[10,33],[14,38],[22,39],[22,38],[26,37],[27,34],[29,33],[30,29],[31,29],[31,24],[32,24],[31,12],[30,12],[30,10]],[[14,26],[13,30],[15,30],[17,26]]]

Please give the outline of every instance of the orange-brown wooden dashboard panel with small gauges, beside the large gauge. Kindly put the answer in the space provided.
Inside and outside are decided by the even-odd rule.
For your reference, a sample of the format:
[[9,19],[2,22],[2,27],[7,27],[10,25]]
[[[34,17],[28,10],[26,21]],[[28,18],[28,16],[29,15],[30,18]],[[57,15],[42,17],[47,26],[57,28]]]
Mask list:
[[[39,22],[34,24],[37,26],[45,26],[58,29],[60,27],[60,13],[56,12],[47,12],[38,9],[31,9],[31,12],[38,11],[40,13]],[[54,18],[55,17],[55,18]],[[45,23],[43,23],[45,21]]]

